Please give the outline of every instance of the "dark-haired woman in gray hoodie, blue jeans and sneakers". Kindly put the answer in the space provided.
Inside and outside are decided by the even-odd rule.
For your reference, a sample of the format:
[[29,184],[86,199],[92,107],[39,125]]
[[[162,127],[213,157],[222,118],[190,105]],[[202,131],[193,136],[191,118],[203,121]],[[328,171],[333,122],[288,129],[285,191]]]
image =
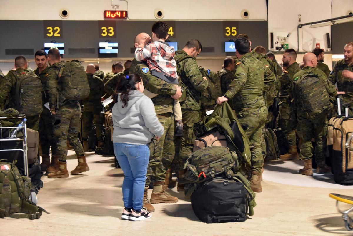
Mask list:
[[142,208],[151,139],[160,137],[164,128],[154,105],[143,94],[142,79],[136,74],[120,76],[114,94],[113,143],[115,156],[124,172],[122,219],[133,221],[151,218]]

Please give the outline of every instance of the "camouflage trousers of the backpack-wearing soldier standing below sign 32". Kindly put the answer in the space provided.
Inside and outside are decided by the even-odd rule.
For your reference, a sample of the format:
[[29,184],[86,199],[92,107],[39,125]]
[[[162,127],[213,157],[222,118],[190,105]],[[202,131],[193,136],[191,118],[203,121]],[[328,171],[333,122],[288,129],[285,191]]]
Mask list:
[[77,156],[84,155],[82,144],[77,136],[81,126],[80,119],[81,107],[78,102],[66,102],[56,111],[53,129],[59,160],[66,160],[66,140],[69,141]]

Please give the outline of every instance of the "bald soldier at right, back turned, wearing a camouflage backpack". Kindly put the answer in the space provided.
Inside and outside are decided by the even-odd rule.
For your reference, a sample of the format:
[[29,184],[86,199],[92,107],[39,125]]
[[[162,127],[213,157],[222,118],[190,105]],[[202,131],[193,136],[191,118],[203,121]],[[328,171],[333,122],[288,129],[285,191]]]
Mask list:
[[[297,113],[297,133],[303,139],[300,149],[300,160],[304,160],[304,168],[299,170],[301,175],[313,175],[311,158],[315,155],[317,164],[316,173],[330,172],[331,168],[325,164],[327,113],[335,102],[337,92],[332,84],[329,84],[325,73],[315,68],[316,55],[306,53],[303,57],[303,70],[293,76],[291,90],[293,99],[291,104],[291,121]],[[315,78],[308,77],[315,75]],[[321,86],[321,85],[324,85]],[[316,86],[316,87],[313,87]],[[301,91],[301,93],[299,93]],[[306,96],[309,95],[309,96]],[[320,98],[320,100],[317,100]],[[291,122],[290,122],[291,123]],[[291,125],[289,125],[291,128]],[[293,129],[293,128],[292,128]],[[315,152],[311,139],[315,138]]]

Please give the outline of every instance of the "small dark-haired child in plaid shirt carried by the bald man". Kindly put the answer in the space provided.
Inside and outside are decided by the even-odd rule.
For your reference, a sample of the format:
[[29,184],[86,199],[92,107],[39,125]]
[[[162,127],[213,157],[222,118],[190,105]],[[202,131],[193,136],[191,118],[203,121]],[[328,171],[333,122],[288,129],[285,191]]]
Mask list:
[[[178,87],[177,63],[175,62],[174,48],[166,43],[168,39],[168,24],[157,21],[152,25],[152,40],[154,42],[147,45],[138,45],[135,51],[135,58],[138,61],[147,61],[151,74],[163,79],[168,83],[175,84]],[[149,98],[154,98],[154,94],[145,90]],[[179,100],[174,101],[174,120],[177,122],[175,136],[183,136],[183,122],[181,121],[181,107]]]

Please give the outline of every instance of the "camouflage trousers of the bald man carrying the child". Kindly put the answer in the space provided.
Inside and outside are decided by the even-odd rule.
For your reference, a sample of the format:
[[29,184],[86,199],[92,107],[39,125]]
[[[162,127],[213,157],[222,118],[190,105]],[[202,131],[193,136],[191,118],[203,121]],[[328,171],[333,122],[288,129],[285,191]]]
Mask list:
[[157,115],[159,122],[164,127],[164,134],[158,140],[155,138],[150,142],[150,160],[147,168],[146,184],[148,187],[151,178],[155,182],[164,181],[166,172],[174,159],[174,117],[172,113]]

